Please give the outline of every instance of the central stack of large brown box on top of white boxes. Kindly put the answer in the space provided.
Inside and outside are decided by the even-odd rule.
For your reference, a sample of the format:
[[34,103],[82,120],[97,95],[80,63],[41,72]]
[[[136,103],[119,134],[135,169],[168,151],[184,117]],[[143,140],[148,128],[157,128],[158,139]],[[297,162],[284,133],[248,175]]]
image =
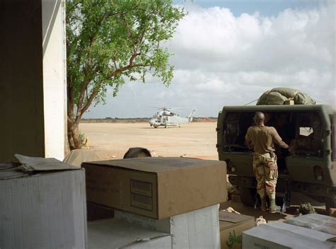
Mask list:
[[225,162],[129,158],[82,166],[87,200],[116,210],[114,219],[89,222],[89,248],[220,248]]

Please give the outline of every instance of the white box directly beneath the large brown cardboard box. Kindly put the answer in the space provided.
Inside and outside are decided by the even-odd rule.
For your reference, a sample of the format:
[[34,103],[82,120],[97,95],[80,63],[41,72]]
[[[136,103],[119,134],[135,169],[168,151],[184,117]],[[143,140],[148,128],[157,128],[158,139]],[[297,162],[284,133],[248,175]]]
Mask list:
[[116,211],[115,219],[172,235],[172,249],[220,248],[219,204],[167,219],[151,219]]

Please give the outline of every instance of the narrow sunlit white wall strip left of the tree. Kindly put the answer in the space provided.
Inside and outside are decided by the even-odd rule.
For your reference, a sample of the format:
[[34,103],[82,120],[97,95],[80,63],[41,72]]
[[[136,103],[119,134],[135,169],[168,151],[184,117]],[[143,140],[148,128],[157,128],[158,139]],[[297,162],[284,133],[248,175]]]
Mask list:
[[42,1],[45,157],[63,160],[66,132],[65,0]]

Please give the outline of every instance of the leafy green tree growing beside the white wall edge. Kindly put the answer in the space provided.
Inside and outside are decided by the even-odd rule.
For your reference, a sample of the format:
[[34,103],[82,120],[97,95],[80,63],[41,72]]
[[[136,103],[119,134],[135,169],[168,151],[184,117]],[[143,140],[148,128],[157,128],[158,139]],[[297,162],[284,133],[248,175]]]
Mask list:
[[125,79],[147,73],[169,86],[173,66],[162,42],[184,9],[171,0],[67,0],[67,129],[70,149],[82,146],[79,122],[92,103],[116,96]]

